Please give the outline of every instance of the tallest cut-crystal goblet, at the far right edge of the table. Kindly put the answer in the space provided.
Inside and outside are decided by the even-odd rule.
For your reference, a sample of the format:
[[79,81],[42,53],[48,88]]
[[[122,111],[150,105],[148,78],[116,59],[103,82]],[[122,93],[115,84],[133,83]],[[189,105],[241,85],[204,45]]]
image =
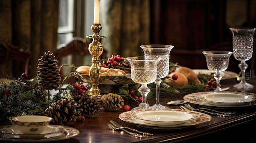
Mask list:
[[248,61],[252,58],[255,28],[229,28],[233,36],[233,53],[236,60],[241,61],[238,67],[241,70],[242,79],[233,87],[239,90],[250,90],[254,86],[245,81],[245,70],[248,68]]

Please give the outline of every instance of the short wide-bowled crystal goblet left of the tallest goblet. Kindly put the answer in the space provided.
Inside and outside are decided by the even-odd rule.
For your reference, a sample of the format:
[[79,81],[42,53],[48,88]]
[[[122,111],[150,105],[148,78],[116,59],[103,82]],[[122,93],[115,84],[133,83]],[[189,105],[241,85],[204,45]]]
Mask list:
[[214,91],[221,91],[220,80],[222,72],[227,70],[229,66],[229,57],[232,55],[230,51],[203,51],[206,57],[207,67],[209,70],[215,71],[213,77],[216,79],[217,87]]

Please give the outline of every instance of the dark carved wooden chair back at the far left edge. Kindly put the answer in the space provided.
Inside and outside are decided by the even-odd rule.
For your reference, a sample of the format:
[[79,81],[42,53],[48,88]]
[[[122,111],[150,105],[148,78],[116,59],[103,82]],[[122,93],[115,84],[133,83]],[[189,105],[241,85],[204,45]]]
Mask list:
[[12,61],[12,73],[14,77],[21,77],[22,73],[29,72],[30,56],[31,53],[29,50],[24,50],[24,48],[0,42],[0,64]]

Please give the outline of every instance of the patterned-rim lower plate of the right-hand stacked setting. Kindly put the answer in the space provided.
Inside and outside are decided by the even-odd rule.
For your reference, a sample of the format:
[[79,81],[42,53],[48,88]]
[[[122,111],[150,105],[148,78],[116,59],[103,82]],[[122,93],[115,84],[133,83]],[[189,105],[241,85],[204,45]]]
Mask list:
[[[249,98],[253,98],[252,102],[248,102],[246,104],[238,104],[238,105],[234,105],[232,103],[220,103],[220,104],[213,104],[213,103],[209,103],[209,101],[205,101],[200,99],[200,97],[204,96],[204,95],[209,95],[209,94],[214,94],[216,96],[220,95],[223,96],[224,94],[229,94],[229,95],[244,95],[244,96],[248,96]],[[199,98],[198,98],[199,97]],[[255,99],[256,98],[256,94],[254,93],[248,93],[248,92],[232,92],[232,91],[218,91],[218,92],[214,92],[214,91],[208,91],[208,92],[196,92],[196,93],[191,93],[188,95],[185,95],[183,97],[184,100],[190,102],[190,103],[194,103],[194,104],[198,104],[198,105],[202,105],[202,106],[208,106],[208,107],[212,107],[212,108],[240,108],[240,107],[250,107],[250,106],[255,106],[256,102]],[[236,104],[236,103],[235,103]]]

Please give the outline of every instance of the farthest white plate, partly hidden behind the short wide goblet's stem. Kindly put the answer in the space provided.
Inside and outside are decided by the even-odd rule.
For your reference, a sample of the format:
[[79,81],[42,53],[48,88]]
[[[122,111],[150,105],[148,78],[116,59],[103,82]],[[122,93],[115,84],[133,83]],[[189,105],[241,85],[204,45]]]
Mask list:
[[[206,74],[206,75],[213,75],[214,71],[207,70],[207,69],[193,69],[193,71],[198,75],[199,73],[201,74]],[[223,79],[232,79],[236,78],[238,74],[234,73],[232,71],[225,70],[222,72],[222,80]]]

